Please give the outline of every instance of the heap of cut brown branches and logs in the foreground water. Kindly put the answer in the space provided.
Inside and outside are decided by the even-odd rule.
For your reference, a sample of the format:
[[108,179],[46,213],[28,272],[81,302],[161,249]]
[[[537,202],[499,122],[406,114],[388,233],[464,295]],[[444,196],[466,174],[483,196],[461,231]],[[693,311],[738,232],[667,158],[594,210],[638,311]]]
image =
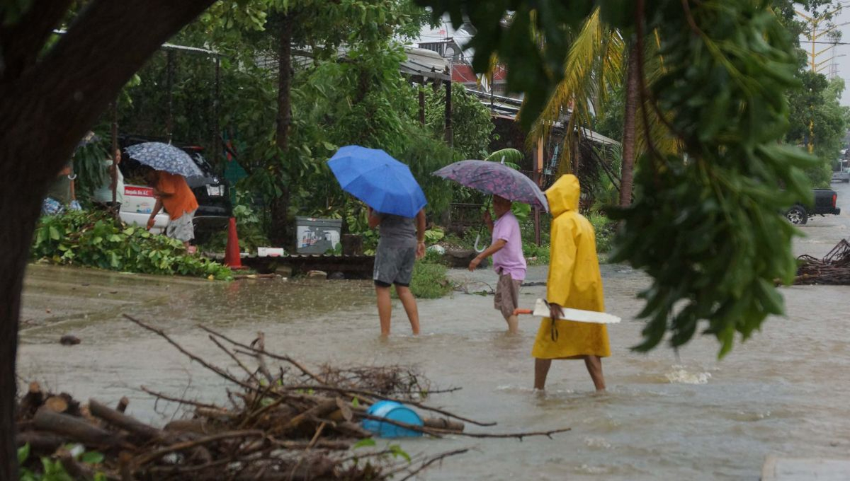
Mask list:
[[[434,462],[466,450],[411,457],[399,445],[381,449],[371,442],[372,433],[362,428],[362,420],[386,422],[434,438],[451,435],[523,439],[551,437],[569,430],[467,433],[466,423],[496,423],[475,421],[423,404],[428,394],[456,389],[433,390],[415,370],[402,366],[322,366],[312,371],[290,356],[265,350],[262,333],[252,343],[243,344],[199,326],[229,357],[229,364],[236,366],[233,369],[238,369],[237,375],[185,350],[160,329],[131,316],[127,318],[165,338],[235,389],[227,390],[227,405],[214,405],[142,387],[157,400],[177,402],[188,412],[187,417],[157,428],[127,415],[126,398],[114,408],[97,400],[81,405],[69,394],[46,393],[38,383],[31,383],[18,405],[18,445],[29,445],[29,450],[38,456],[60,462],[73,478],[407,479]],[[274,372],[269,369],[269,361],[280,363]],[[374,417],[367,409],[379,400],[404,402],[432,417],[424,417],[423,426]],[[78,450],[97,451],[103,456],[94,465],[83,463],[68,449],[69,443],[77,444]],[[37,461],[37,456],[32,456],[25,467],[37,470]]]

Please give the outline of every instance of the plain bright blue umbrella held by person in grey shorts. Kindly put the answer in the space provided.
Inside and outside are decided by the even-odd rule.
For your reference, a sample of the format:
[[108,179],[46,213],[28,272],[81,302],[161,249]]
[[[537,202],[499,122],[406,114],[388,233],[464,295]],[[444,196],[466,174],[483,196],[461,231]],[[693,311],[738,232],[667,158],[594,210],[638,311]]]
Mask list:
[[377,148],[348,145],[327,165],[345,192],[383,214],[416,217],[428,204],[410,168]]

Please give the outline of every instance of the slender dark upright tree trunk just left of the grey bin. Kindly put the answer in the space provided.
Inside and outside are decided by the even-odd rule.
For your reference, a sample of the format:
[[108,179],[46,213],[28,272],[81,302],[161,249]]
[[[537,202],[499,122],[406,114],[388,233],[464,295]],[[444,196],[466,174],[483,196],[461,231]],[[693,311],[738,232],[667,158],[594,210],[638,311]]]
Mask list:
[[286,14],[280,21],[280,35],[277,50],[277,132],[275,143],[279,157],[275,176],[279,178],[280,197],[271,204],[270,240],[275,245],[289,245],[289,201],[290,190],[280,177],[287,171],[286,151],[289,148],[289,127],[292,124],[292,14]]

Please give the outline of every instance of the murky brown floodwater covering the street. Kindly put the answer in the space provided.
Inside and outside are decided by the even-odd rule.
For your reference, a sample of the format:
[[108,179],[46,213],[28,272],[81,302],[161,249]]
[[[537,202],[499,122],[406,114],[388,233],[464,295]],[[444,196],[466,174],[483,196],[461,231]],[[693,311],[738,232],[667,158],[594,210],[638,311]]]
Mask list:
[[[841,216],[812,219],[796,254],[822,256],[848,237],[850,187],[839,191]],[[452,271],[480,290],[492,272]],[[530,269],[528,282],[545,280]],[[187,398],[222,401],[227,384],[190,363],[155,334],[122,319],[127,312],[173,334],[187,349],[231,366],[196,323],[250,341],[266,333],[268,350],[305,362],[411,364],[433,388],[430,402],[458,414],[498,422],[475,432],[506,433],[570,427],[553,439],[416,439],[411,453],[470,447],[434,467],[426,479],[751,479],[768,453],[850,457],[850,288],[783,288],[788,316],[717,361],[717,343],[698,338],[678,353],[661,347],[633,353],[642,324],[634,321],[648,286],[640,272],[603,266],[606,306],[623,317],[609,327],[612,356],[604,360],[609,390],[594,394],[581,361],[556,361],[547,393],[530,389],[531,345],[538,322],[524,319],[509,337],[492,297],[455,293],[421,300],[422,335],[413,338],[400,305],[394,335],[378,338],[368,282],[206,282],[167,277],[31,266],[27,277],[19,371],[77,398],[113,403],[164,422],[175,406],[155,405],[140,385]],[[523,288],[532,305],[544,287]],[[48,312],[49,310],[49,312]],[[57,344],[74,333],[82,344]]]

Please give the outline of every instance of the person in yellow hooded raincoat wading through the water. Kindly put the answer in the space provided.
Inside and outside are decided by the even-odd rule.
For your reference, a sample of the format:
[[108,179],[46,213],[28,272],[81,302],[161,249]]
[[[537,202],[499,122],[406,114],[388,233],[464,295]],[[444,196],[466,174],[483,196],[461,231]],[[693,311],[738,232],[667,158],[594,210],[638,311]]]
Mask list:
[[583,359],[598,391],[605,389],[601,358],[611,355],[604,324],[553,319],[561,307],[605,310],[596,236],[590,221],[579,214],[579,180],[561,176],[546,191],[552,213],[547,302],[550,317],[537,331],[531,355],[535,360],[535,389],[545,389],[553,359]]

